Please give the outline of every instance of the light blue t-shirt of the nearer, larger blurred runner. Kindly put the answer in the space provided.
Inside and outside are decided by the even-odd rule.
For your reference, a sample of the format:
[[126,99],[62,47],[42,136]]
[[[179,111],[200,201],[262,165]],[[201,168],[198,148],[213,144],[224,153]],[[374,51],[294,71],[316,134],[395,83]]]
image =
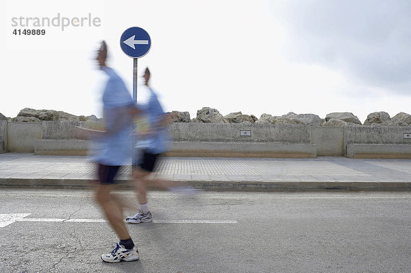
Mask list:
[[136,107],[136,103],[113,69],[103,67],[103,71],[108,75],[103,91],[103,119],[106,131],[114,132],[96,141],[97,151],[92,161],[109,166],[125,165],[132,156],[132,117],[125,113],[127,108]]

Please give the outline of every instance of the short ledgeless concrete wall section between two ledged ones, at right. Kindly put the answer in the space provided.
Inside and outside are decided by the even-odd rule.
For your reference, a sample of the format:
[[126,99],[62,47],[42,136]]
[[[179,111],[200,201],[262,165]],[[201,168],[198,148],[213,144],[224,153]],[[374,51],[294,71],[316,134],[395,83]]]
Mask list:
[[316,144],[317,156],[343,156],[344,127],[312,127],[311,143]]

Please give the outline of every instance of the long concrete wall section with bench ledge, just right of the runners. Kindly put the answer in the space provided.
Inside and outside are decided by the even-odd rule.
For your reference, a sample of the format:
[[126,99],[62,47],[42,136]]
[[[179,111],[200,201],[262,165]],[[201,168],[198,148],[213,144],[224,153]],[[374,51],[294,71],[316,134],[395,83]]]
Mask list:
[[316,157],[310,126],[171,123],[169,132],[173,146],[168,156]]

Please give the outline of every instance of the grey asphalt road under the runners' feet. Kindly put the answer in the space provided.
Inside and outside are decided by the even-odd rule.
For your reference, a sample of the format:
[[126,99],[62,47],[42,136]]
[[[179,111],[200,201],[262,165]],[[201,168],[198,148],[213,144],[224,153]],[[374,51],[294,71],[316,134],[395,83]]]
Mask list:
[[150,202],[156,222],[128,225],[140,261],[109,264],[100,255],[117,239],[90,191],[0,190],[0,272],[411,272],[408,192]]

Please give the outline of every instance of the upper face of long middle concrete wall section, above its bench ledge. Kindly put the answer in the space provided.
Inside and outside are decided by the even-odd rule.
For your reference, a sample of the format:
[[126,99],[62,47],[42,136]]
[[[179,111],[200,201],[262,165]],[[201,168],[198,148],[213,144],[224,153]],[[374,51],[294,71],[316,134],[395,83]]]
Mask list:
[[[247,123],[171,123],[174,141],[310,143],[310,126]],[[251,136],[241,136],[250,130]]]

